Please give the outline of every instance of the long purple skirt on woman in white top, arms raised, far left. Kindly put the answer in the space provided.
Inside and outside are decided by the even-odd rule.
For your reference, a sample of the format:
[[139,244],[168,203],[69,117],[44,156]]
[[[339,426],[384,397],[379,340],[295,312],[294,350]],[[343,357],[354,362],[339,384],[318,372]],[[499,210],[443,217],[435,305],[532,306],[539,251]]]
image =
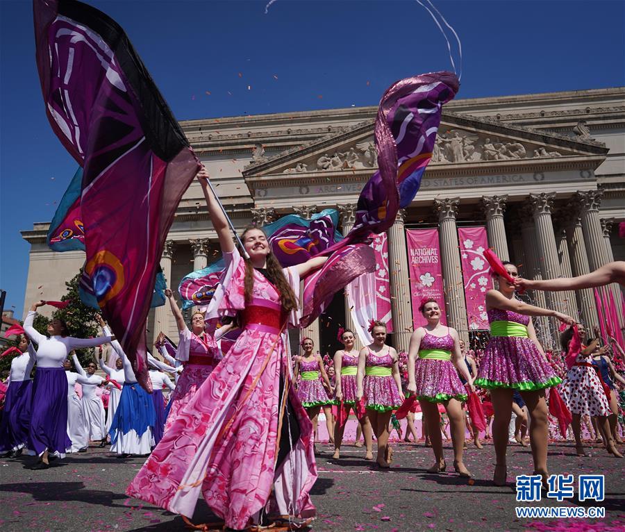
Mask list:
[[67,377],[63,367],[37,368],[31,412],[28,449],[38,456],[46,449],[65,456],[72,440],[67,435]]

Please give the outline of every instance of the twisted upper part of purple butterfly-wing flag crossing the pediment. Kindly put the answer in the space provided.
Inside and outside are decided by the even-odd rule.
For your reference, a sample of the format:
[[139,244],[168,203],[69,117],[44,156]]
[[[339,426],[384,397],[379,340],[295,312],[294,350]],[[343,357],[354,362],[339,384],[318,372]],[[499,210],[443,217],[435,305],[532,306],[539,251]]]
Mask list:
[[326,253],[361,242],[369,233],[383,233],[399,208],[410,205],[432,158],[442,106],[456,96],[458,83],[456,74],[434,72],[387,89],[376,117],[378,171],[360,192],[352,230]]

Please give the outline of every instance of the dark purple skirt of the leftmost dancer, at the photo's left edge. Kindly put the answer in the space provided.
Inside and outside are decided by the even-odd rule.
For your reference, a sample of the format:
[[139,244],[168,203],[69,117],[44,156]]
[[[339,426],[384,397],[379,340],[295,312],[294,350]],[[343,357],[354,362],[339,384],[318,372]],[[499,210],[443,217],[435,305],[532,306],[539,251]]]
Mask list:
[[32,399],[33,381],[31,379],[9,384],[0,422],[0,452],[17,451],[28,442]]

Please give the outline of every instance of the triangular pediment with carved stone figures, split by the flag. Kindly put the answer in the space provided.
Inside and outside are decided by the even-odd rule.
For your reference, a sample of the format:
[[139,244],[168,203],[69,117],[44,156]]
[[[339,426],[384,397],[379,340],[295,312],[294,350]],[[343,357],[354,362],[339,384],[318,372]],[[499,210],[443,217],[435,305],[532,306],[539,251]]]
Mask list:
[[[244,169],[246,178],[278,175],[370,173],[377,167],[373,120],[327,135]],[[445,112],[442,115],[431,167],[447,165],[523,165],[560,163],[570,158],[597,160],[608,150],[592,140],[500,124]]]

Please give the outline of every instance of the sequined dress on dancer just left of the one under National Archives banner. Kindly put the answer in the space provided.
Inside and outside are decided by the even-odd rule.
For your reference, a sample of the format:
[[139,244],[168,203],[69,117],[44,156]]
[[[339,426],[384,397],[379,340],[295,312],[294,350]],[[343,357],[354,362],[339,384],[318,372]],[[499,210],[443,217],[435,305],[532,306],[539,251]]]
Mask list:
[[390,354],[377,356],[371,350],[367,353],[363,397],[365,407],[378,412],[397,410],[401,406],[401,397],[397,383],[392,376],[393,358]]

